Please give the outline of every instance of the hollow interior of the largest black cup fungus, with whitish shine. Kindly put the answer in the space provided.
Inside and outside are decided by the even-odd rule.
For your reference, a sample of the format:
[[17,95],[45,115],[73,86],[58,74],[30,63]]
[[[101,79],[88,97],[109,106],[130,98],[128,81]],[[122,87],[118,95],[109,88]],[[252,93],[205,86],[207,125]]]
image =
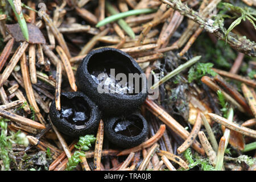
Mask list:
[[[118,51],[108,50],[92,55],[87,68],[96,84],[104,83],[104,89],[107,86],[111,93],[133,96],[142,90],[142,77],[138,77],[139,80],[135,77],[129,77],[129,73],[139,73],[138,69],[134,67],[129,57]],[[112,74],[110,69],[114,69]],[[118,78],[119,73],[126,75],[126,78]],[[119,76],[121,75],[119,74]],[[137,85],[139,87],[135,88]]]

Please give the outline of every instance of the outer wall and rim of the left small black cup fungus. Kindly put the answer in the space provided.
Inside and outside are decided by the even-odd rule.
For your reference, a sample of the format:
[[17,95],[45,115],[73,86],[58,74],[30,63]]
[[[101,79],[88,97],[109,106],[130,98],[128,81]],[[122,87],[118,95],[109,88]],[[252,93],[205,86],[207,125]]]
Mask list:
[[[71,101],[79,98],[81,103],[85,102],[86,109],[89,107],[88,119],[85,121],[84,125],[75,125],[67,121],[67,119],[61,118],[61,111],[56,110],[55,100],[53,100],[49,111],[53,125],[55,125],[59,131],[71,137],[93,134],[97,130],[98,123],[101,119],[101,111],[98,109],[98,106],[82,92],[64,92],[61,93],[61,97],[61,102],[64,100],[63,97]],[[65,104],[61,103],[61,107],[64,105]]]

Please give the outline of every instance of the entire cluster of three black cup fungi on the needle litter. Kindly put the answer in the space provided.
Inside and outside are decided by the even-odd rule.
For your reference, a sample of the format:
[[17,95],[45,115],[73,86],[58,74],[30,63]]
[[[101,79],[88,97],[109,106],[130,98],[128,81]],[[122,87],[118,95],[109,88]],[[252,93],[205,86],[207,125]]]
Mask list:
[[[143,78],[139,83],[139,92],[98,92],[99,82],[102,81],[98,75],[105,73],[109,76],[110,69],[115,69],[115,75],[141,75]],[[147,79],[142,73],[136,61],[119,49],[101,48],[91,51],[82,60],[76,73],[76,84],[81,92],[61,93],[60,111],[56,110],[55,101],[52,101],[50,117],[53,125],[64,134],[77,137],[95,133],[103,118],[105,137],[110,142],[123,148],[139,145],[148,133],[146,119],[138,111],[147,97]],[[113,80],[110,79],[110,82]]]

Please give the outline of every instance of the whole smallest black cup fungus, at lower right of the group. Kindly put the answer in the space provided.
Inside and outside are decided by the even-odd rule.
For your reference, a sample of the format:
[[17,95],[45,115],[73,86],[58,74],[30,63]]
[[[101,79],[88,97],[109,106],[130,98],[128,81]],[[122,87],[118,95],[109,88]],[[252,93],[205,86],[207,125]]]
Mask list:
[[141,114],[133,113],[126,117],[106,119],[104,131],[109,141],[116,146],[131,148],[144,142],[148,124]]

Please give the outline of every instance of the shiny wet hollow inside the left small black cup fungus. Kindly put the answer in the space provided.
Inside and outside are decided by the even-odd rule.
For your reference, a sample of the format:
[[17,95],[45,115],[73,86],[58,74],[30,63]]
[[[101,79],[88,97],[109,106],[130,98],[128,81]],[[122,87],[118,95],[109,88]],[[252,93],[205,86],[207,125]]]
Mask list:
[[64,118],[72,125],[82,126],[90,119],[91,108],[82,97],[72,99],[61,95],[60,118]]

